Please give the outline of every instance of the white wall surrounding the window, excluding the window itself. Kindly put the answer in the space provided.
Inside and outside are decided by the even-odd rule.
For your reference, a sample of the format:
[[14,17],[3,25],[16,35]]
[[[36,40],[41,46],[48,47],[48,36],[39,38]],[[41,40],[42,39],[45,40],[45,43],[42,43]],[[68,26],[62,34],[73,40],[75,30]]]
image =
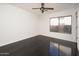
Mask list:
[[[72,41],[76,42],[76,10],[70,9],[62,12],[55,12],[52,14],[44,14],[42,15],[42,19],[40,19],[40,34],[59,38],[62,40]],[[72,15],[72,34],[64,34],[64,33],[57,33],[57,32],[50,32],[49,28],[49,18],[51,17],[58,17],[58,16],[66,16],[66,15]]]

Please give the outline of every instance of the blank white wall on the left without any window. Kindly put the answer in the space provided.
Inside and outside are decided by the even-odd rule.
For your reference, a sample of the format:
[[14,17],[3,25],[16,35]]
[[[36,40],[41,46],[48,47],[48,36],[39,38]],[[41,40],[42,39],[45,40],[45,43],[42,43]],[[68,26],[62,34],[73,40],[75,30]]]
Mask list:
[[38,16],[9,4],[0,4],[0,46],[37,35]]

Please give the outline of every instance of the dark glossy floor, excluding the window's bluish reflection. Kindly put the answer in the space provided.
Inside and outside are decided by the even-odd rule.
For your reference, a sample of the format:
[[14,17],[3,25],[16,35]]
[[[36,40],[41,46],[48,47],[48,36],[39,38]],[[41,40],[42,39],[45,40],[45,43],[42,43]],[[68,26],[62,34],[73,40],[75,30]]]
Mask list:
[[74,42],[38,35],[0,47],[0,55],[48,56],[50,41],[72,48],[72,55],[77,53],[77,45]]

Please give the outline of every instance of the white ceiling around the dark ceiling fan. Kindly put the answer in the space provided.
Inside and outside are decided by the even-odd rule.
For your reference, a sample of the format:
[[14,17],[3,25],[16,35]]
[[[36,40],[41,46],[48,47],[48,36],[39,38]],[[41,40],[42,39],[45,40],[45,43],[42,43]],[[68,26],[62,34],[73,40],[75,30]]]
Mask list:
[[[40,3],[12,3],[11,5],[15,5],[17,7],[20,7],[35,14],[42,14],[40,10],[32,9],[32,8],[40,8],[41,7]],[[45,13],[58,12],[66,9],[76,8],[78,5],[79,5],[78,3],[45,3],[45,7],[54,8],[54,10],[47,11]]]

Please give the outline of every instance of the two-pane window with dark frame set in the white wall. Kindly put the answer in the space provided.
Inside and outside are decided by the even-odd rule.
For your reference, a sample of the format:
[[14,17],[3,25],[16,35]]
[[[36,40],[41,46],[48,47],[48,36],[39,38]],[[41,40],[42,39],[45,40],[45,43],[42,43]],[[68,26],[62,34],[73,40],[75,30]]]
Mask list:
[[50,19],[50,31],[71,34],[72,16],[62,16]]

